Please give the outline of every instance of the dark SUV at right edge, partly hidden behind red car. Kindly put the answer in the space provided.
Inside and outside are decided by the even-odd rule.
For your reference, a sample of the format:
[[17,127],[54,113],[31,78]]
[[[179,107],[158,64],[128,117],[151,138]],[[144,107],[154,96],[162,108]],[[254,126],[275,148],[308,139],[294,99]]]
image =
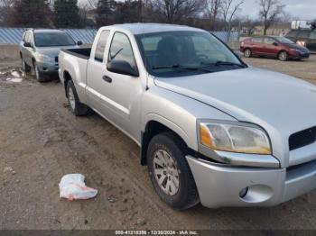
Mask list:
[[292,30],[285,37],[316,52],[316,30]]

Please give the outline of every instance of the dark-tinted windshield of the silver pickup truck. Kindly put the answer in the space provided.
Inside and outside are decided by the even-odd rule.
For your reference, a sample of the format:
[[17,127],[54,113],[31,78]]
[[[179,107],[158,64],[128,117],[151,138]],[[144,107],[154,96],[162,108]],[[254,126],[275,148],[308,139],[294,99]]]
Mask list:
[[209,32],[154,32],[135,37],[147,70],[156,77],[181,77],[246,67]]

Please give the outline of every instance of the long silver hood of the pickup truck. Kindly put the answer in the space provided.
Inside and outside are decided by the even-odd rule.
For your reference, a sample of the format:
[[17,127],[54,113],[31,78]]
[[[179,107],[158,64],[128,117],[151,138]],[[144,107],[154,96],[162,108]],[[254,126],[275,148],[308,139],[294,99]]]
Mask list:
[[269,133],[276,155],[289,152],[288,137],[293,132],[316,125],[316,86],[280,73],[242,68],[194,77],[155,78],[154,83],[209,104],[238,121],[260,125]]

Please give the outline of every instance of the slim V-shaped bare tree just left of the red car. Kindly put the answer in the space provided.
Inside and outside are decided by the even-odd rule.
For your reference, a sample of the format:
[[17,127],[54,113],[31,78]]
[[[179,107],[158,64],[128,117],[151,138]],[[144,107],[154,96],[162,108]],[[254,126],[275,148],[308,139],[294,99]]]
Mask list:
[[228,41],[230,38],[230,32],[232,28],[232,22],[237,16],[237,12],[240,10],[240,6],[245,3],[244,0],[240,0],[236,5],[233,5],[234,0],[223,0],[221,5],[223,20],[225,23],[225,30],[228,32]]

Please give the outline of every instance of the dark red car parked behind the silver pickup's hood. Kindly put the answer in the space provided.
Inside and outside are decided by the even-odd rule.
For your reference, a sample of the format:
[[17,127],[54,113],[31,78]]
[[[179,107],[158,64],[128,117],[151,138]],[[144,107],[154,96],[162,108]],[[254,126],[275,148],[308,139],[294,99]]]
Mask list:
[[244,53],[246,58],[265,56],[285,61],[287,59],[308,59],[310,57],[310,50],[284,37],[247,38],[241,41],[240,51]]

